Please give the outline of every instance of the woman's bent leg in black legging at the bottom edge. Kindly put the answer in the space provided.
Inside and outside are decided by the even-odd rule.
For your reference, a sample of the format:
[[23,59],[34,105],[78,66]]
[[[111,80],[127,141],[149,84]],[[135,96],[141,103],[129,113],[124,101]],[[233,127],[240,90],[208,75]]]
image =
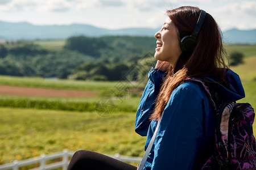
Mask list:
[[121,162],[109,156],[98,154],[97,152],[80,150],[75,152],[68,165],[68,170],[75,169],[136,170],[137,167]]

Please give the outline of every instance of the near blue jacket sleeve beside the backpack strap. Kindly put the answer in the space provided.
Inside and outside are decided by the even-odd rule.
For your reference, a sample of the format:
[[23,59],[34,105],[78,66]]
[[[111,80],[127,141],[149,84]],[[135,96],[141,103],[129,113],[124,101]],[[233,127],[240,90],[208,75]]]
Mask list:
[[204,119],[210,122],[214,118],[204,92],[197,84],[184,84],[172,92],[163,112],[155,140],[153,170],[192,169],[195,158],[200,156],[197,154],[203,150],[201,146],[214,133],[213,124],[207,125],[212,128],[204,128]]

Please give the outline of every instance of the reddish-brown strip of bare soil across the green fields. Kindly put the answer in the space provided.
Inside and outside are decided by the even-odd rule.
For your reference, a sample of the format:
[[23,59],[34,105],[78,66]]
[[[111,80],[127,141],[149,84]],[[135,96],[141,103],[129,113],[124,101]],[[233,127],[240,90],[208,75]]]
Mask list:
[[0,86],[0,95],[40,97],[96,97],[98,91],[53,90],[47,88]]

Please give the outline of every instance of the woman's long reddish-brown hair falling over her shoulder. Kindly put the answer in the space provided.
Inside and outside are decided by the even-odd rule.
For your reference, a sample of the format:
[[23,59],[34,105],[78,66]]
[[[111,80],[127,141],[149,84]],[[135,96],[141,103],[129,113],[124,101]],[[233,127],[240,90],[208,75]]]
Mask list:
[[[178,37],[191,35],[200,15],[198,7],[183,6],[174,10],[168,10],[166,14],[175,24]],[[177,62],[170,66],[158,97],[155,101],[155,109],[152,119],[162,116],[172,91],[184,82],[186,78],[195,76],[209,76],[218,78],[218,82],[226,82],[225,59],[226,52],[222,45],[222,33],[216,21],[208,13],[197,36],[196,47],[191,53],[182,52]]]

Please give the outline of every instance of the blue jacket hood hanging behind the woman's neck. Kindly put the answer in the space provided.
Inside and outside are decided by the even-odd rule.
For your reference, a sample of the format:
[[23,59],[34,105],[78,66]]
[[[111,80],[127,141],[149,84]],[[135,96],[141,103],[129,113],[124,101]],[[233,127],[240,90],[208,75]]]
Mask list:
[[[215,82],[211,78],[207,78],[211,82]],[[229,82],[229,87],[225,87],[220,83],[217,83],[218,90],[220,91],[222,100],[224,102],[232,102],[237,101],[245,97],[245,91],[243,90],[242,82],[238,74],[234,73],[234,71],[227,69],[226,70],[226,79]]]

